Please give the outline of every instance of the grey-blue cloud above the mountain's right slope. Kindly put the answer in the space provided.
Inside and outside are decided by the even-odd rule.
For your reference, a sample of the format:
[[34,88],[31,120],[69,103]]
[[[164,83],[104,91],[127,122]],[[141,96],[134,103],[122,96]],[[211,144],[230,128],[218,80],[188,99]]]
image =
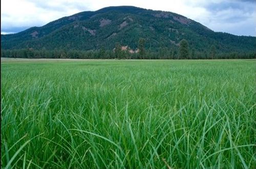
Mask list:
[[256,36],[256,1],[223,1],[205,6],[210,15],[202,23],[214,31]]

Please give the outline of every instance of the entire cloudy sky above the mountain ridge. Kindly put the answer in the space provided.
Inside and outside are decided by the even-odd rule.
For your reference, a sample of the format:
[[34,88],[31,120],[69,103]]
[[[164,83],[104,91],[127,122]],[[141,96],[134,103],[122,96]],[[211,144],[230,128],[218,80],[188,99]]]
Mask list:
[[82,11],[123,5],[178,13],[215,32],[256,36],[256,0],[2,0],[1,34],[41,27]]

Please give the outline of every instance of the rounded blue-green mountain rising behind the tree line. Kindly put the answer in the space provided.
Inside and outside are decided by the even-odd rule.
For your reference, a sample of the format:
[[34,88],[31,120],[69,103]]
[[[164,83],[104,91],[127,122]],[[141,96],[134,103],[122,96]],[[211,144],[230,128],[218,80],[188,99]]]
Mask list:
[[136,49],[139,38],[145,48],[178,48],[186,39],[189,48],[218,52],[256,52],[256,37],[214,32],[185,16],[132,6],[106,7],[62,17],[42,27],[1,35],[1,49],[112,50],[115,43]]

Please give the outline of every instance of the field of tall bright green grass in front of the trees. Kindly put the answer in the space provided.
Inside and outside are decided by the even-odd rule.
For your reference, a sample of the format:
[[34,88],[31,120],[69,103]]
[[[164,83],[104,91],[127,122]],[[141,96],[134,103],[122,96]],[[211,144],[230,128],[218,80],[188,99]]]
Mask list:
[[256,168],[256,60],[1,63],[6,168]]

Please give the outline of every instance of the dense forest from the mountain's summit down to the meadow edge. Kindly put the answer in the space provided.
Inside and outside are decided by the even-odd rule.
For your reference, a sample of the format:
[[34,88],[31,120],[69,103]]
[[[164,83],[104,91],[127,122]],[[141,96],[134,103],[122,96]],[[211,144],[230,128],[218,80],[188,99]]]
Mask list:
[[[140,39],[143,50],[135,53]],[[117,43],[127,50],[118,53]],[[1,56],[16,58],[255,58],[255,46],[256,37],[214,32],[176,13],[130,6],[81,12],[1,35]]]

